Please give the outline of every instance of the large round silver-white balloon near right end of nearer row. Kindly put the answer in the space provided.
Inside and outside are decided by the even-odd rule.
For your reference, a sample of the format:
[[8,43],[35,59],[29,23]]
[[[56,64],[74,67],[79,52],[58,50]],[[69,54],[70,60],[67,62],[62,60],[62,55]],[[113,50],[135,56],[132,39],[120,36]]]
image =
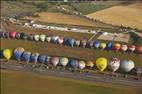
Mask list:
[[123,60],[120,64],[120,68],[124,72],[130,72],[135,67],[132,60]]

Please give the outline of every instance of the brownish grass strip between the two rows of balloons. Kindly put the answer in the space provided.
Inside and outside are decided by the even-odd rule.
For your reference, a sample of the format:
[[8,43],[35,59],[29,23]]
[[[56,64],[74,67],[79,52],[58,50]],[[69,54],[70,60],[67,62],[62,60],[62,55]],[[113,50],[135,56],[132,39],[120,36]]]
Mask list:
[[[14,45],[13,45],[14,43]],[[40,45],[40,46],[38,46]],[[10,39],[1,39],[1,48],[11,48],[23,47],[27,51],[39,52],[41,54],[51,55],[51,56],[68,56],[68,57],[77,57],[85,60],[92,60],[95,62],[97,57],[104,56],[106,58],[118,57],[120,59],[132,59],[136,66],[142,67],[142,55],[90,49],[90,48],[71,48],[68,46],[61,46],[52,43],[43,43],[35,41],[23,41],[23,40],[10,40]]]

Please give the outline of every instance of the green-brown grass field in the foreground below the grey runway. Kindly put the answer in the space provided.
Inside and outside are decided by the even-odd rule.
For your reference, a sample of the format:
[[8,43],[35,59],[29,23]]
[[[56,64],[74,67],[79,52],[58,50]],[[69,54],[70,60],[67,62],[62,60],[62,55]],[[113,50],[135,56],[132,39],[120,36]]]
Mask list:
[[28,72],[1,71],[1,94],[140,94],[140,90],[57,78]]

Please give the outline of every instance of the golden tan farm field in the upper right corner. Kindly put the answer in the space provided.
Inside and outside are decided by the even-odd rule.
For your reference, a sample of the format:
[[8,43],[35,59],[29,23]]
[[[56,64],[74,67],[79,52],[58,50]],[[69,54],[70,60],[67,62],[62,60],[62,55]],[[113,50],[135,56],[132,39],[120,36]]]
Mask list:
[[139,4],[114,6],[102,11],[90,13],[90,16],[94,19],[100,20],[105,23],[126,26],[132,28],[138,28],[142,30],[142,2]]

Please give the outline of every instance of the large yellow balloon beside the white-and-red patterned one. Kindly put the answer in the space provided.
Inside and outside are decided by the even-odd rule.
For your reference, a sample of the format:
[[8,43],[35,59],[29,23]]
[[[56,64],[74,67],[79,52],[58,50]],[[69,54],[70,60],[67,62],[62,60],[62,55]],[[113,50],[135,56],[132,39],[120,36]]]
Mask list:
[[101,72],[103,72],[107,68],[107,59],[104,57],[98,58],[96,60],[96,66]]

